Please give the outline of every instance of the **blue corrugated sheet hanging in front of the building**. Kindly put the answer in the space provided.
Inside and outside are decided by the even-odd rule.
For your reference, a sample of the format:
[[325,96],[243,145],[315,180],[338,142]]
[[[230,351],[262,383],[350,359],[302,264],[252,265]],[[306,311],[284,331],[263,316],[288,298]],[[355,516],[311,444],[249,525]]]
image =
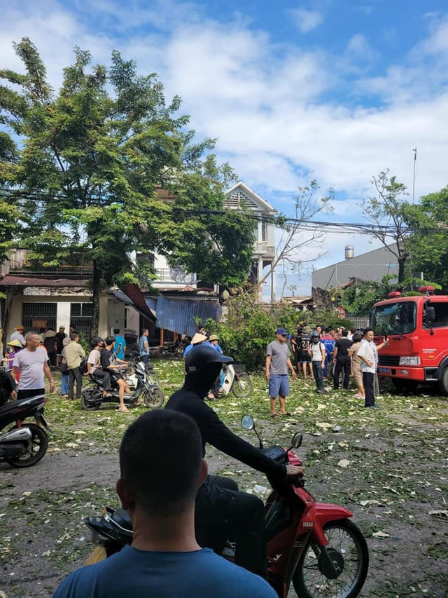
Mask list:
[[188,334],[192,337],[197,330],[195,318],[205,322],[212,318],[221,320],[222,308],[217,299],[171,299],[159,295],[157,302],[157,319],[160,327]]

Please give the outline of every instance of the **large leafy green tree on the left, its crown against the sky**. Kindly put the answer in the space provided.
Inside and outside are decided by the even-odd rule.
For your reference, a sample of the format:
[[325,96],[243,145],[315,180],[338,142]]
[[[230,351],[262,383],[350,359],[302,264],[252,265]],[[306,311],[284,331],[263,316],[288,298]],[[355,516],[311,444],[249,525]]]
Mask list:
[[139,76],[116,51],[106,70],[79,48],[55,93],[34,44],[14,46],[25,74],[0,71],[9,83],[0,86],[0,122],[12,133],[2,142],[10,159],[1,177],[27,215],[31,259],[54,266],[82,253],[92,264],[92,334],[101,290],[139,282],[132,252],[241,283],[255,222],[223,210],[232,170],[216,164],[214,140],[193,141],[188,116],[177,116],[180,98],[167,104],[158,77]]

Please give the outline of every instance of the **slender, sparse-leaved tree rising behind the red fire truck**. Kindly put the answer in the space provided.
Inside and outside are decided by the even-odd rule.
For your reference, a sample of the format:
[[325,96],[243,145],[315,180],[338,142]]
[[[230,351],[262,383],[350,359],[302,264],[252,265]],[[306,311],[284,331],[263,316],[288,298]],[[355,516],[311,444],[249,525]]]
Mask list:
[[[383,170],[372,178],[377,196],[361,203],[367,219],[374,225],[369,232],[379,239],[398,261],[398,282],[406,276],[406,262],[409,258],[409,233],[411,232],[406,218],[408,195],[405,184],[389,177],[389,171]],[[395,243],[395,245],[392,245]]]

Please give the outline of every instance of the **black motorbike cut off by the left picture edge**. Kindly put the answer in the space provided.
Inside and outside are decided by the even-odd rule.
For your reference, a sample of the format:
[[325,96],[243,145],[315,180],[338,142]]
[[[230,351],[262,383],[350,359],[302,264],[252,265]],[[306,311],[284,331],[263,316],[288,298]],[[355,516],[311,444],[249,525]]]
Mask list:
[[[0,430],[15,423],[7,432],[0,433],[0,459],[13,467],[31,467],[41,461],[48,449],[48,436],[45,428],[51,432],[42,413],[47,401],[43,395],[9,401],[0,407]],[[34,417],[36,423],[23,423]]]

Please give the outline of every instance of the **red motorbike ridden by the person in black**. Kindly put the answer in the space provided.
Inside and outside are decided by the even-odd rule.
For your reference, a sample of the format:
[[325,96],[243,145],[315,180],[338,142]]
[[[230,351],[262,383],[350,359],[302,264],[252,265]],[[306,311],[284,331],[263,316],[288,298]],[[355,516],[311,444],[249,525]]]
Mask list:
[[[255,430],[251,416],[241,419],[246,430]],[[260,436],[255,430],[259,440]],[[300,466],[293,449],[302,435],[293,436],[290,449],[260,449],[279,463]],[[353,598],[363,587],[369,566],[365,538],[351,520],[353,513],[339,505],[316,503],[304,488],[303,478],[272,491],[265,503],[268,581],[279,598],[286,598],[291,583],[300,598]],[[132,524],[123,509],[103,508],[102,517],[87,517],[97,545],[88,563],[113,555],[132,543]],[[235,559],[231,538],[222,555]]]

